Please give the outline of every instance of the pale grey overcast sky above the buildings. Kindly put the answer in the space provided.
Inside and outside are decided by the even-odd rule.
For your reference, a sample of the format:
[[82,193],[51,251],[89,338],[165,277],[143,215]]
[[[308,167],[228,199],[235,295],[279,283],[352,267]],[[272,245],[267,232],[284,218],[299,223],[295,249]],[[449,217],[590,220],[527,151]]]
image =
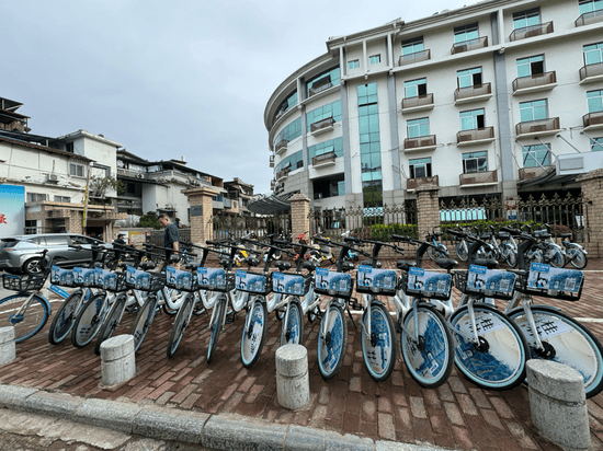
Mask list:
[[32,134],[102,134],[147,160],[268,193],[263,113],[342,36],[471,0],[0,0],[0,96]]

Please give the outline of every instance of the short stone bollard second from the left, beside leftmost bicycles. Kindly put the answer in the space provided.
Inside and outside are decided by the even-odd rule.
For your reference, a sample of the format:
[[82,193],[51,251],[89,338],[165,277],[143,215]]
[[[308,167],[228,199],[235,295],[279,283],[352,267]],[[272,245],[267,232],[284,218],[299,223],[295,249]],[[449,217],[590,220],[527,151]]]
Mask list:
[[120,384],[136,375],[134,336],[117,335],[101,344],[101,373],[105,386]]

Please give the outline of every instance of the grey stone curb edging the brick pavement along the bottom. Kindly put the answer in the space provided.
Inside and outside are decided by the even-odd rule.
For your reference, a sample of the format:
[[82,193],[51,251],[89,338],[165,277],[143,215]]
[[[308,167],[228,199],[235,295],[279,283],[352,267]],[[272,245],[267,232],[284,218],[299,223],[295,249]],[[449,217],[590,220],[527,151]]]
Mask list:
[[159,440],[201,444],[216,450],[286,451],[431,451],[437,447],[362,438],[353,435],[280,425],[246,417],[208,415],[161,406],[82,398],[67,393],[0,384],[0,407]]

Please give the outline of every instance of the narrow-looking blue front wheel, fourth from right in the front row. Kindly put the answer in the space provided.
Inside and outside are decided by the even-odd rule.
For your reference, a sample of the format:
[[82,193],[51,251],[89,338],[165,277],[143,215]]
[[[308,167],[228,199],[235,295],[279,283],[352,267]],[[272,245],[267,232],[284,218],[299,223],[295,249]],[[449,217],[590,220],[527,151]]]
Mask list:
[[368,314],[362,317],[362,356],[368,373],[375,381],[385,381],[396,365],[396,332],[391,315],[385,305],[373,302],[371,309],[371,336]]

